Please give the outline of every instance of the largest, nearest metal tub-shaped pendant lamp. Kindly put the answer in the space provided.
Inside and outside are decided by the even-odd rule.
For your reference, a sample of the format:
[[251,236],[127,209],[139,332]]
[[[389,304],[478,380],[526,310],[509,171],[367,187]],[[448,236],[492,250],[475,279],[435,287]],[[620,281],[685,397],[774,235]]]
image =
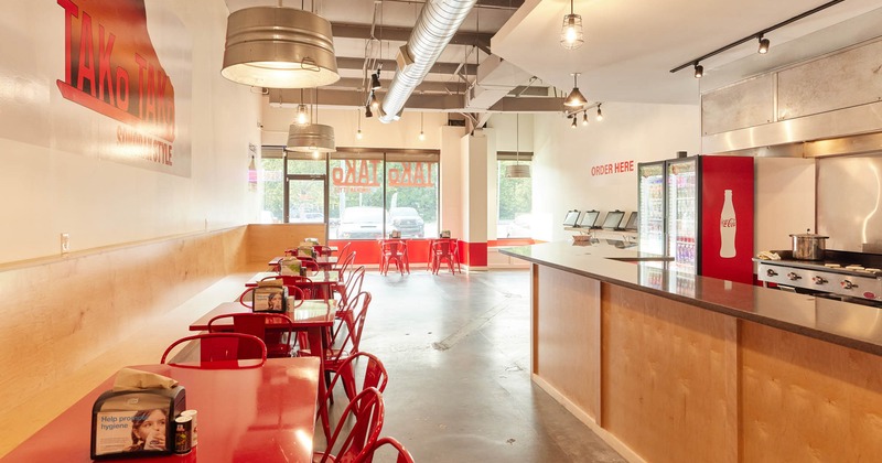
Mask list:
[[[281,2],[280,2],[281,3]],[[254,7],[227,18],[224,77],[269,88],[312,88],[340,79],[331,23],[314,13]]]

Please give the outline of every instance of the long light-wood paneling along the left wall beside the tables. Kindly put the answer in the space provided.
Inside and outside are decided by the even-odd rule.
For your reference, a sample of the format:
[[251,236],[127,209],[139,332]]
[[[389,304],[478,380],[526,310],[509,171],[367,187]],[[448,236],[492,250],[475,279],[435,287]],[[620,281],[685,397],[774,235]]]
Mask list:
[[2,412],[105,352],[138,352],[132,333],[245,263],[244,236],[237,227],[0,271]]

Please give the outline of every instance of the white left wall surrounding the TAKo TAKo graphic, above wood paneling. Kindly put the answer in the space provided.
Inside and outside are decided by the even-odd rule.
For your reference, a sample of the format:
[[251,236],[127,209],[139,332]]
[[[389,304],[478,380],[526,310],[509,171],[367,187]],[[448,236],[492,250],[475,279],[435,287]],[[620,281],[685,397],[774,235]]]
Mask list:
[[[148,17],[158,4],[148,2]],[[192,78],[178,80],[186,88],[175,91],[182,98],[175,105],[187,109],[178,114],[178,136],[191,143],[191,169],[183,176],[97,155],[115,141],[106,133],[119,122],[60,96],[56,80],[65,78],[63,8],[56,2],[4,4],[0,262],[57,256],[62,233],[71,235],[72,251],[79,251],[204,230],[206,220],[208,228],[220,228],[256,216],[247,166],[248,144],[260,141],[260,98],[220,77],[226,6],[200,0],[160,7],[176,15],[182,29],[166,34],[151,30],[154,45],[192,50]],[[182,56],[187,53],[166,55],[165,65],[186,66],[176,62]],[[191,99],[185,101],[186,95]],[[74,114],[79,125],[64,123],[60,112]],[[10,130],[19,125],[22,130]],[[68,142],[72,137],[74,143]]]

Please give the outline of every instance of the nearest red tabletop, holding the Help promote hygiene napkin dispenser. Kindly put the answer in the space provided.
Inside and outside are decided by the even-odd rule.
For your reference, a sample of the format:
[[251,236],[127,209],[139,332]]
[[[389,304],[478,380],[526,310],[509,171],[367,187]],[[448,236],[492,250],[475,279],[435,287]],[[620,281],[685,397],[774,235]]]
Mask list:
[[[184,455],[126,462],[311,462],[319,359],[269,358],[261,368],[192,369],[169,365],[132,368],[178,379],[186,406],[198,411],[200,443]],[[111,388],[108,378],[12,450],[9,462],[90,462],[92,406]]]

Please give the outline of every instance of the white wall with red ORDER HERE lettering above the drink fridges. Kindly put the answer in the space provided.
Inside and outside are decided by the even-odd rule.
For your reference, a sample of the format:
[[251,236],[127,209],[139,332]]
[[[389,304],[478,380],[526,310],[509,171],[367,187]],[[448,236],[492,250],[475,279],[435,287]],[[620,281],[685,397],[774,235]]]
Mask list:
[[[568,209],[635,211],[638,162],[698,154],[699,108],[686,105],[604,103],[604,120],[577,128],[561,115],[534,122],[534,238],[561,240]],[[634,171],[592,175],[591,168],[634,161]]]

